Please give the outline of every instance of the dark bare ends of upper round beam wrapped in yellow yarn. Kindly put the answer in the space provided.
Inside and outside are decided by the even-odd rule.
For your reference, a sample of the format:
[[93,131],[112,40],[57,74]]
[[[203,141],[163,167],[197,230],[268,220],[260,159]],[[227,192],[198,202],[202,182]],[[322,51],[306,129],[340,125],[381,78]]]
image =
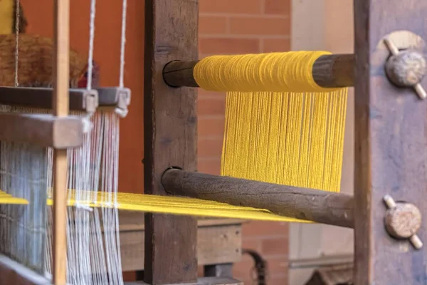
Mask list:
[[[199,61],[172,61],[163,69],[164,82],[172,87],[199,87],[194,80],[194,66]],[[325,88],[352,87],[354,55],[334,54],[320,56],[312,69],[313,78]]]

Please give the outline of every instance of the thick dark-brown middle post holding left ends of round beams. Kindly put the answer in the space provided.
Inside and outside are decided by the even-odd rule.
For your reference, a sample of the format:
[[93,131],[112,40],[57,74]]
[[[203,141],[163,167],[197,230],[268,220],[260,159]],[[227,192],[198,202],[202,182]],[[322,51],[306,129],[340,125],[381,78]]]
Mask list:
[[[198,58],[198,0],[145,1],[144,191],[166,195],[168,167],[196,170],[196,90],[171,88],[162,78],[166,63]],[[196,219],[145,214],[144,281],[195,282]]]

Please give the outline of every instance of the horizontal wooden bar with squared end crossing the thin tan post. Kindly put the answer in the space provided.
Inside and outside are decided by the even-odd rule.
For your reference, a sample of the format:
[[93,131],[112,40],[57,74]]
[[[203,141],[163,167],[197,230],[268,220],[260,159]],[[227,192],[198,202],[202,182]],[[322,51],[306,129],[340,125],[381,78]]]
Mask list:
[[46,114],[0,113],[0,140],[66,149],[83,143],[83,119]]

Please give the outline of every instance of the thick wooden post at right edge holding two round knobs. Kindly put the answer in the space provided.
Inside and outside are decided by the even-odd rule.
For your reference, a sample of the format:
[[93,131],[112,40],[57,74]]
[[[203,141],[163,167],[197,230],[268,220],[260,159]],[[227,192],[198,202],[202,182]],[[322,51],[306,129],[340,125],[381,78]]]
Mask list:
[[[427,100],[396,88],[384,73],[382,38],[407,30],[427,40],[427,1],[354,1],[355,284],[427,284],[427,247],[393,239],[384,227],[384,195],[423,214],[427,242]],[[381,48],[383,48],[381,50]],[[426,78],[423,86],[427,86]]]

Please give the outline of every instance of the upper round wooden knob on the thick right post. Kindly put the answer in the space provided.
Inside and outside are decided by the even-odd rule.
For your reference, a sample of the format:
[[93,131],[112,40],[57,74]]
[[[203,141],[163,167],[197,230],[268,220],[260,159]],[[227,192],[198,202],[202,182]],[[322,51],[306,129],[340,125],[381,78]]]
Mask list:
[[418,51],[401,51],[391,56],[386,63],[386,74],[396,86],[415,86],[421,82],[426,72],[426,58]]

